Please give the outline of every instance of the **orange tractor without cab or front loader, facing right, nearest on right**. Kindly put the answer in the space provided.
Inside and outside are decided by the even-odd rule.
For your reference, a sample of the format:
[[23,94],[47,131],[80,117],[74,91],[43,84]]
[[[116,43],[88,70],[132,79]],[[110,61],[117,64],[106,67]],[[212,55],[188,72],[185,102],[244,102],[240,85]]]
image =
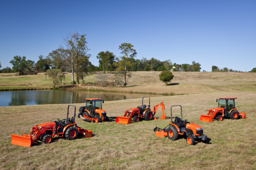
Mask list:
[[[180,105],[175,105],[180,106]],[[195,123],[189,123],[188,120],[182,120],[182,107],[180,106],[180,117],[175,117],[175,120],[172,121],[172,107],[171,106],[171,123],[167,125],[164,129],[154,128],[155,135],[157,137],[168,137],[171,140],[177,140],[179,135],[187,136],[188,145],[195,145],[195,140],[198,142],[206,142],[207,135],[203,134],[203,128]],[[168,128],[167,128],[168,127]]]

